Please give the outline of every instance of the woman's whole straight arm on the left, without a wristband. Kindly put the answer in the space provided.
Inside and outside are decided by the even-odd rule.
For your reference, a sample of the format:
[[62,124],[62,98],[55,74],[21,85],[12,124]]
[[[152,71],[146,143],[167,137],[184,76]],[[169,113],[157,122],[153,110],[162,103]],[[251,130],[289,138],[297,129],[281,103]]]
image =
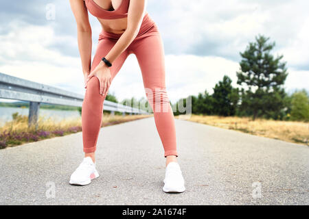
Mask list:
[[87,76],[89,75],[91,69],[91,26],[84,1],[70,0],[70,4],[77,24],[78,49],[82,60],[82,72],[84,73],[86,88]]

